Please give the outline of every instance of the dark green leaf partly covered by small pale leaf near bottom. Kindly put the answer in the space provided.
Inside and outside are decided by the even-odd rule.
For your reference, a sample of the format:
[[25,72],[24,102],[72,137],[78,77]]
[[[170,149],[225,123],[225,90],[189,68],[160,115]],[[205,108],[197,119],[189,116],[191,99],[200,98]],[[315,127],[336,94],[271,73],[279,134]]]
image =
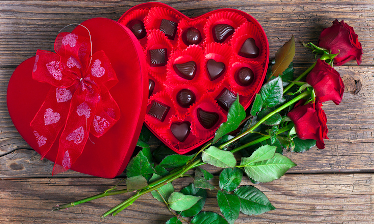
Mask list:
[[195,188],[194,184],[190,184],[187,187],[184,187],[181,190],[182,194],[185,195],[193,195],[193,196],[200,196],[201,199],[196,202],[195,205],[193,205],[191,208],[183,211],[180,213],[183,217],[191,217],[198,214],[204,207],[205,200],[207,198],[207,190],[202,188]]

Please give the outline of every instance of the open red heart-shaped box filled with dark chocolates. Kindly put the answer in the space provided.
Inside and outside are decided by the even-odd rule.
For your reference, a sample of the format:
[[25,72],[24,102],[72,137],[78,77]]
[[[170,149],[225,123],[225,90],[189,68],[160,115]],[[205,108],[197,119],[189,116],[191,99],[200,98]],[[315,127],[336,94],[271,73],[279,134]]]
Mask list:
[[119,22],[144,48],[149,73],[145,123],[177,153],[212,138],[237,96],[247,108],[261,87],[268,43],[246,13],[222,9],[189,19],[167,5],[145,3]]

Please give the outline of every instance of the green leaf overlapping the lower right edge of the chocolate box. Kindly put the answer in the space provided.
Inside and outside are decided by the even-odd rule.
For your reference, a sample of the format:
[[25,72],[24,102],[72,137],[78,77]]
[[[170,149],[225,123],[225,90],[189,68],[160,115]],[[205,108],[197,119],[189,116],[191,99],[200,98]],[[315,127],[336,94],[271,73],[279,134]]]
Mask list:
[[222,123],[216,131],[213,142],[218,141],[218,139],[220,139],[225,134],[238,129],[240,122],[242,122],[244,118],[246,118],[246,112],[243,106],[239,103],[238,95],[234,103],[231,105],[229,112],[227,113],[227,121]]

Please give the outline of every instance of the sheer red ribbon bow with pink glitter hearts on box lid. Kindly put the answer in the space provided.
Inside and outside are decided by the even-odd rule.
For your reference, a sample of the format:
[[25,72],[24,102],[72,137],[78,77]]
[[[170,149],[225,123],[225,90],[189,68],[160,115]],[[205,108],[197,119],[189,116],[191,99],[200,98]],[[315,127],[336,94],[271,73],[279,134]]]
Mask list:
[[54,50],[36,53],[32,78],[52,87],[30,126],[42,158],[62,131],[57,174],[81,155],[89,133],[100,137],[119,120],[120,110],[109,93],[118,79],[103,51],[91,55],[88,38],[66,32],[57,36]]

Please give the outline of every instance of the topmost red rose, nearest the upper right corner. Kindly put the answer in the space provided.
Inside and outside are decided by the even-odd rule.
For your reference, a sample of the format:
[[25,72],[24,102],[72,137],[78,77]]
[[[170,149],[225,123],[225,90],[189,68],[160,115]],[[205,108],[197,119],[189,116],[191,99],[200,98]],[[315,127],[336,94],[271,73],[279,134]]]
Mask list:
[[343,65],[354,59],[360,65],[363,49],[357,37],[351,26],[335,19],[331,27],[322,30],[318,38],[318,46],[331,50],[333,54],[339,53],[334,58],[335,65]]

